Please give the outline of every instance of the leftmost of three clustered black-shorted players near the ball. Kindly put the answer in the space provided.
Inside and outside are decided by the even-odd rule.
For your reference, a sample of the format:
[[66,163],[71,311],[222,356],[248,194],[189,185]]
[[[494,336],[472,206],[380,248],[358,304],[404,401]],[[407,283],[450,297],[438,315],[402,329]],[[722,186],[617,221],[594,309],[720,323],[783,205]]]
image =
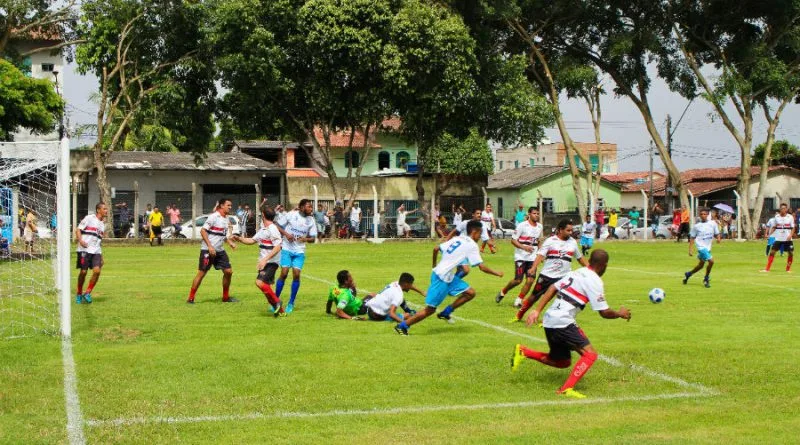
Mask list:
[[[536,276],[536,269],[531,270],[533,262],[536,260],[536,253],[542,239],[542,225],[539,224],[539,209],[536,207],[528,208],[528,219],[517,224],[514,234],[511,235],[511,244],[516,247],[514,250],[514,279],[506,284],[506,287],[497,293],[494,298],[495,303],[500,303],[511,289],[519,286],[522,279],[525,285],[517,297],[514,304],[519,307],[522,299],[528,294],[533,285],[533,277]],[[519,302],[519,303],[517,303]]]

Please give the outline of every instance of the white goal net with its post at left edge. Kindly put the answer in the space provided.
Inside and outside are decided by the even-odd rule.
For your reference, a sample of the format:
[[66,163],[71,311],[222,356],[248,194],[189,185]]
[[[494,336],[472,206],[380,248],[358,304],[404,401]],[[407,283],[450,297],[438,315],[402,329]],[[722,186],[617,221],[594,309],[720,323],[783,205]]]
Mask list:
[[0,339],[70,335],[68,147],[0,142]]

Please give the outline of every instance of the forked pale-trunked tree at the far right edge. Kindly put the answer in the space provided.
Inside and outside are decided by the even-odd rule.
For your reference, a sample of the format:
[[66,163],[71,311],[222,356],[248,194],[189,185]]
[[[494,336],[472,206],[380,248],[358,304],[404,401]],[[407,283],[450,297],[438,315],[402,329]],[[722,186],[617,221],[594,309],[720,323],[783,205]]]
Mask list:
[[[684,95],[702,96],[739,145],[737,188],[751,211],[742,215],[744,232],[755,236],[766,191],[767,167],[781,114],[800,93],[800,4],[797,2],[670,2],[670,38],[683,55],[675,73],[688,72]],[[716,79],[704,72],[713,67]],[[681,69],[683,68],[683,70]],[[688,76],[683,76],[688,77]],[[699,90],[699,92],[697,91]],[[736,114],[726,104],[733,105]],[[750,194],[750,153],[755,115],[763,112],[767,139],[761,157],[758,192]],[[734,120],[738,116],[739,122]]]

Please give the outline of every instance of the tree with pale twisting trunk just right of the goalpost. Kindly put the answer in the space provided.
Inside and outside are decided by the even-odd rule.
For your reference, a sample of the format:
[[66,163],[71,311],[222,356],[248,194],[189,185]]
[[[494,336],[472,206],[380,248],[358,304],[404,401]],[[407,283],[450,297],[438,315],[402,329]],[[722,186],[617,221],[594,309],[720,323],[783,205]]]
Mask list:
[[81,8],[77,32],[86,43],[77,49],[78,70],[100,80],[92,149],[100,200],[109,203],[106,161],[125,146],[140,113],[157,106],[157,95],[191,72],[191,62],[204,45],[200,24],[205,22],[205,6],[177,0],[112,0],[86,1]]

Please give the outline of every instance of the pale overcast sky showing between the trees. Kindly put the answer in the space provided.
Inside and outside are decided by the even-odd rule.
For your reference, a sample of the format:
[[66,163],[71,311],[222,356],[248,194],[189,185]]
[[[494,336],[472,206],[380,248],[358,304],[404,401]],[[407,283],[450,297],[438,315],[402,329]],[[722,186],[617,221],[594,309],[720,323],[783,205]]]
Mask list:
[[[612,82],[606,81],[606,90],[612,90]],[[97,91],[98,82],[94,76],[81,76],[74,71],[74,65],[65,69],[64,95],[67,99],[70,123],[73,128],[79,124],[95,123],[97,106],[89,97]],[[603,107],[603,142],[617,144],[617,157],[620,171],[638,171],[649,168],[650,135],[633,103],[626,98],[616,98],[607,94],[601,100]],[[688,101],[669,91],[667,86],[656,79],[650,93],[650,104],[662,138],[666,139],[665,120],[672,115],[673,125],[686,109]],[[732,167],[739,165],[739,148],[733,137],[717,119],[711,120],[711,106],[702,99],[696,99],[686,112],[683,121],[673,137],[673,159],[680,169],[704,167]],[[732,109],[731,109],[732,111]],[[594,131],[586,105],[582,101],[562,102],[562,112],[575,141],[594,141]],[[732,111],[732,118],[738,124],[738,115]],[[766,121],[763,113],[756,113],[753,146],[763,142],[766,135]],[[800,145],[800,106],[789,105],[783,113],[781,124],[776,132],[777,139],[787,139]],[[553,128],[547,131],[552,141],[560,141],[561,135]],[[78,141],[75,141],[78,142]],[[90,143],[84,140],[81,143]],[[661,169],[661,161],[655,153],[655,168]]]

